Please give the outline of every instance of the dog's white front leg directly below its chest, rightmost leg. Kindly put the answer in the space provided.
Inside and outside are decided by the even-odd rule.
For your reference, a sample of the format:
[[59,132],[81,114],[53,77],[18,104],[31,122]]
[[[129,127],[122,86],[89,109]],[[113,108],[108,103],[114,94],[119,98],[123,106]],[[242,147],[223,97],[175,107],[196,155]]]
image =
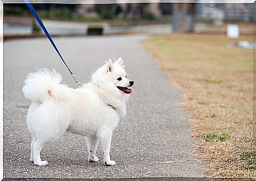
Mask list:
[[112,137],[112,132],[109,130],[103,130],[99,135],[101,149],[103,151],[103,159],[104,159],[105,165],[107,166],[116,165],[116,162],[113,160],[110,160],[110,156],[109,156],[111,137]]

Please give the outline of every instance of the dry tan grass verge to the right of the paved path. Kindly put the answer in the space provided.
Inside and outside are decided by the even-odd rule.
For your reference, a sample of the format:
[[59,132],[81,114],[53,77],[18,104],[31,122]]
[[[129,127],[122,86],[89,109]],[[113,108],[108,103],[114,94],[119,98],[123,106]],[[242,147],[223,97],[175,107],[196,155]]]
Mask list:
[[[253,149],[252,49],[228,47],[247,40],[224,35],[172,34],[143,43],[160,69],[184,91],[184,107],[201,140],[197,155],[208,177],[256,177]],[[254,147],[255,148],[255,147]]]

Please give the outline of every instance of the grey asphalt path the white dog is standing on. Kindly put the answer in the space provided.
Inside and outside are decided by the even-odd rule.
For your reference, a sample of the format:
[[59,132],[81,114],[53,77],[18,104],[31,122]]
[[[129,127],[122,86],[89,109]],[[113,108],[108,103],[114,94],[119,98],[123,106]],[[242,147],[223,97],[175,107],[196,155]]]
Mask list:
[[[128,78],[135,80],[127,116],[113,133],[110,156],[116,166],[89,163],[84,138],[67,132],[43,148],[43,167],[30,163],[31,136],[26,128],[30,100],[22,94],[26,74],[55,68],[70,87],[77,87],[46,38],[4,42],[4,177],[124,178],[201,177],[197,142],[181,106],[182,92],[160,71],[139,42],[143,35],[60,37],[54,39],[81,82],[109,58],[122,56]],[[163,163],[166,162],[166,163]]]

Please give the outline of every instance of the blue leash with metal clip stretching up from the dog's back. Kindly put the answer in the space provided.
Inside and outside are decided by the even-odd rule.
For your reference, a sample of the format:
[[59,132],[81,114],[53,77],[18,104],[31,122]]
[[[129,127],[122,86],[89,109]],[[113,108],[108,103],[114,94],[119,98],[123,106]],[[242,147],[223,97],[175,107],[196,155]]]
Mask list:
[[49,32],[47,31],[46,27],[44,26],[43,22],[41,21],[39,15],[35,12],[35,9],[33,8],[33,6],[30,4],[29,0],[24,0],[24,2],[26,3],[27,7],[29,7],[30,11],[33,13],[34,17],[36,18],[37,22],[40,24],[40,26],[42,27],[44,33],[46,34],[46,36],[48,37],[49,41],[52,43],[52,46],[54,47],[54,49],[56,50],[56,52],[58,53],[58,55],[60,56],[62,62],[65,64],[65,66],[68,68],[70,74],[72,75],[73,79],[75,80],[75,82],[78,85],[82,85],[81,82],[79,82],[77,80],[77,78],[74,77],[73,72],[70,70],[69,66],[67,65],[67,63],[64,61],[60,51],[58,50],[58,47],[55,45],[54,41],[52,40],[51,35],[49,34]]

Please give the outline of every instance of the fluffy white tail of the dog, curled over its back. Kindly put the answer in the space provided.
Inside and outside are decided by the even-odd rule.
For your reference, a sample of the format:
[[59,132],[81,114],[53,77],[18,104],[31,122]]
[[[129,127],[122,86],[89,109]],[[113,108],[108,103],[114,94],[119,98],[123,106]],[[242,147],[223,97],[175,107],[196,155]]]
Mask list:
[[23,93],[25,98],[32,101],[43,102],[47,99],[63,99],[68,96],[71,88],[60,84],[62,76],[55,69],[36,69],[29,73],[25,80]]

